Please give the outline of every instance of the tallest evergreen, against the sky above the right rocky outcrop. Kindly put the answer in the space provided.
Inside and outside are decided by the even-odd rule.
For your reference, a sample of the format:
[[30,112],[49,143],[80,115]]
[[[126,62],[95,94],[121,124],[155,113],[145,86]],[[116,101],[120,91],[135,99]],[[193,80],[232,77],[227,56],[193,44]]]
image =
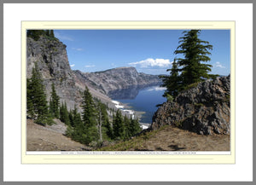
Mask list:
[[184,56],[177,59],[183,87],[214,77],[207,73],[211,72],[212,66],[201,63],[211,61],[207,55],[211,55],[209,50],[212,50],[212,45],[198,38],[200,32],[200,30],[184,31],[184,36],[179,38],[181,44],[174,51],[174,54]]

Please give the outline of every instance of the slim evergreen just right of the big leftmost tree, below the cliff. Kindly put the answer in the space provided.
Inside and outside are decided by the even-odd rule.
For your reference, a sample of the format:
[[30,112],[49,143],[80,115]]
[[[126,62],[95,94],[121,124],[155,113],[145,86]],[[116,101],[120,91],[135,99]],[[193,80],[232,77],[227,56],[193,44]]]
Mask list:
[[51,84],[49,112],[55,118],[60,118],[60,97],[56,94],[55,84]]

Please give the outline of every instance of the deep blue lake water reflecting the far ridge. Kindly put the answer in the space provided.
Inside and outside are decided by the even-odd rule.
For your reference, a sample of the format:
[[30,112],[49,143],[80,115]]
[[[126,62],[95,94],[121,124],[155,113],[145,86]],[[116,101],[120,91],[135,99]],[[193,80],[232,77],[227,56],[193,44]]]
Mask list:
[[151,86],[143,89],[131,88],[119,90],[112,95],[113,100],[122,102],[137,112],[145,112],[140,119],[141,123],[152,123],[152,117],[156,112],[156,105],[166,102],[166,98],[162,95],[165,88],[160,86]]

